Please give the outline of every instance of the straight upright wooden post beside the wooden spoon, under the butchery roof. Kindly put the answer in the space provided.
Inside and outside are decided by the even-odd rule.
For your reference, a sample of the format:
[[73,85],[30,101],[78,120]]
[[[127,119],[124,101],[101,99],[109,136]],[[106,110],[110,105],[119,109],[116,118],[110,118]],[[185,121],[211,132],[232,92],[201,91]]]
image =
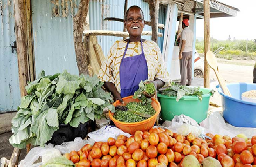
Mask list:
[[206,53],[210,50],[210,2],[203,2],[203,20],[204,20],[204,77],[203,86],[210,88],[210,69],[206,59]]

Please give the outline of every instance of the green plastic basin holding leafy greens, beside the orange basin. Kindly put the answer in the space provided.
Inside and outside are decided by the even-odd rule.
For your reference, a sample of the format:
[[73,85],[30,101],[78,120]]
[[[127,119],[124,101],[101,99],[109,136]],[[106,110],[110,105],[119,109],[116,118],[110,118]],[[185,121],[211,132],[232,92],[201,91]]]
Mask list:
[[202,102],[197,96],[184,96],[176,102],[176,97],[158,94],[162,119],[171,121],[175,115],[181,114],[193,118],[197,123],[206,119],[212,93],[208,88],[200,88],[200,90],[203,92]]

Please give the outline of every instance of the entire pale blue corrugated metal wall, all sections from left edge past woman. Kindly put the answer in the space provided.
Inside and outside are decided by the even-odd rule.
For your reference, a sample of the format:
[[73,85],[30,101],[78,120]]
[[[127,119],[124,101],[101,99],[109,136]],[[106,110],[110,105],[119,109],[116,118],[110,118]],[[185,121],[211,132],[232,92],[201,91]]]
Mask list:
[[[78,74],[73,43],[73,16],[80,0],[32,0],[32,25],[36,75],[45,70],[55,74],[68,70]],[[17,54],[12,53],[14,45],[14,12],[12,0],[0,0],[0,113],[16,111],[20,104]],[[55,3],[55,4],[54,4]],[[58,3],[56,16],[54,7]],[[71,8],[73,5],[73,8]],[[149,5],[142,0],[128,0],[128,8],[137,5],[142,8],[145,20],[150,20]],[[123,23],[105,21],[105,17],[123,18],[124,0],[91,0],[89,8],[91,30],[123,31]],[[59,10],[58,10],[59,9]],[[71,10],[73,9],[73,10]],[[165,22],[165,7],[160,5],[159,23]],[[65,15],[65,16],[64,16]],[[63,17],[64,16],[64,17]],[[102,17],[103,16],[103,17]],[[145,31],[151,27],[145,25]],[[159,30],[159,32],[163,32]],[[142,38],[151,40],[151,36]],[[105,56],[112,44],[120,37],[98,36],[98,43]],[[162,49],[162,38],[158,38]]]

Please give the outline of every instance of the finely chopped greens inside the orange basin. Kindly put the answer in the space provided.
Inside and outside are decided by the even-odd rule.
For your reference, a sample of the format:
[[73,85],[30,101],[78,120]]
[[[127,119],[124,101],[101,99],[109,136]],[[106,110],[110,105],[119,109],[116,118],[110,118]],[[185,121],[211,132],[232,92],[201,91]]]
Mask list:
[[[131,111],[136,111],[138,113],[146,113],[148,115],[153,116],[155,114],[154,108],[151,106],[151,103],[149,104],[142,104],[137,102],[130,102],[126,105],[126,107]],[[146,120],[147,118],[135,115],[134,113],[131,113],[130,111],[120,111],[117,110],[114,113],[114,118],[121,122],[141,122],[143,120]]]

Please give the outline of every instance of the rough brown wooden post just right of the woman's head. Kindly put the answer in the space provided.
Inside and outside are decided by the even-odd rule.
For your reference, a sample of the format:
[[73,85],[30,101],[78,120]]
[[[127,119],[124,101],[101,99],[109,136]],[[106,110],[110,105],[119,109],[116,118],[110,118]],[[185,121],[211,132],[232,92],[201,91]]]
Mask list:
[[149,0],[149,14],[151,20],[152,28],[152,37],[151,40],[158,42],[158,10],[159,10],[159,1],[158,0]]

